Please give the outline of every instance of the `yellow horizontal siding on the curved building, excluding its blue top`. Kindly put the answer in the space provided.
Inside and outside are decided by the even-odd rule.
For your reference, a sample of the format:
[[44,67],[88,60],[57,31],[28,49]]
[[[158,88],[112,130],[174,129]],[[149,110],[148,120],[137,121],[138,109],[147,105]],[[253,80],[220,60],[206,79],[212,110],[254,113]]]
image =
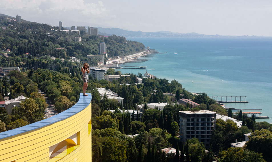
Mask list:
[[[83,97],[80,94],[80,97]],[[91,161],[92,137],[88,136],[91,103],[82,111],[59,122],[0,140],[0,162],[49,162],[49,147],[80,132],[80,145],[58,162]],[[54,116],[52,117],[54,118]]]

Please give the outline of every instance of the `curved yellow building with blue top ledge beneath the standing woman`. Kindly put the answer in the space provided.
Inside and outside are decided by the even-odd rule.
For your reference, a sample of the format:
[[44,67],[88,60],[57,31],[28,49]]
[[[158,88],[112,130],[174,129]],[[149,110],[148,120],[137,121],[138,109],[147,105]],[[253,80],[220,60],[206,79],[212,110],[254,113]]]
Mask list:
[[92,161],[92,96],[51,118],[0,133],[0,162]]

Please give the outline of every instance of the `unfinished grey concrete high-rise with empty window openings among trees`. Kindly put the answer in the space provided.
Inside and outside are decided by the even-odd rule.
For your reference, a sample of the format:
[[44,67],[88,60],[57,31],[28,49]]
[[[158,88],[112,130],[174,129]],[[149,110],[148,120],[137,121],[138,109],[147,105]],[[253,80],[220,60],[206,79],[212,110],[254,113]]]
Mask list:
[[215,129],[216,112],[208,110],[180,111],[180,141],[197,138],[209,145],[211,132]]

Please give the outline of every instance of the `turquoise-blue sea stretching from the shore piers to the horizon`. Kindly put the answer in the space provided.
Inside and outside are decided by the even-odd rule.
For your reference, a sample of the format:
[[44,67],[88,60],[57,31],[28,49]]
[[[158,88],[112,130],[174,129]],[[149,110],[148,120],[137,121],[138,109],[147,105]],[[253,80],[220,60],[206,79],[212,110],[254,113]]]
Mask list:
[[[176,80],[194,93],[206,93],[227,103],[227,108],[262,109],[257,119],[272,123],[272,37],[190,37],[127,38],[159,53],[142,63],[121,66],[147,66],[146,69],[118,69],[122,73],[146,73],[168,81]],[[167,53],[166,53],[167,52]],[[243,97],[246,96],[246,97]],[[233,111],[235,112],[235,111]]]

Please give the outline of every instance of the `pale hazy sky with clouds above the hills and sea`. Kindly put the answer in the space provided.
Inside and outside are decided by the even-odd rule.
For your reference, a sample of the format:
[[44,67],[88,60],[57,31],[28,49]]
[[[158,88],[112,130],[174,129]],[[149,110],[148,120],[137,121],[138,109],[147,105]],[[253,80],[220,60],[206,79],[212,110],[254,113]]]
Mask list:
[[53,26],[272,36],[271,0],[1,0],[0,13]]

